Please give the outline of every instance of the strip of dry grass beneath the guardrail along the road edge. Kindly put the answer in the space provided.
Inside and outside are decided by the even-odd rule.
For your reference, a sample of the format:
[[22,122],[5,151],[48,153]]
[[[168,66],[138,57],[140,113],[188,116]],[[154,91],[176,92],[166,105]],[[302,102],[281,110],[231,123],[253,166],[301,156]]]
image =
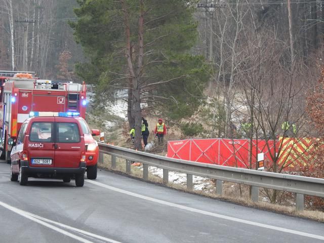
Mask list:
[[[104,163],[100,164],[99,167],[104,170],[121,172],[127,176],[131,176],[134,178],[139,178],[139,179],[143,178],[143,171],[141,170],[141,168],[136,166],[131,166],[130,175],[126,174],[125,159],[116,158],[116,169],[112,170],[111,156],[107,154],[104,154]],[[163,185],[163,178],[160,178],[159,176],[155,176],[150,173],[148,175],[148,180],[150,182]],[[213,180],[206,179],[206,181],[212,182],[211,184],[213,184]],[[311,219],[318,222],[324,222],[324,212],[311,211],[311,210],[297,211],[293,206],[271,204],[266,201],[259,201],[258,203],[255,203],[249,198],[249,186],[247,185],[239,186],[239,184],[236,183],[224,182],[222,195],[216,194],[215,187],[213,187],[212,189],[209,188],[209,190],[207,191],[204,190],[188,191],[186,185],[183,184],[176,184],[176,183],[169,182],[167,186],[177,190],[186,191],[188,193],[193,193],[193,194],[203,195],[209,198],[229,201],[234,204],[243,205],[251,208],[257,208],[260,210],[266,210],[266,211],[276,212],[280,214],[285,214],[285,215],[290,215],[290,216],[295,216],[295,217],[300,217],[305,219]],[[260,197],[261,195],[262,193],[260,193]]]

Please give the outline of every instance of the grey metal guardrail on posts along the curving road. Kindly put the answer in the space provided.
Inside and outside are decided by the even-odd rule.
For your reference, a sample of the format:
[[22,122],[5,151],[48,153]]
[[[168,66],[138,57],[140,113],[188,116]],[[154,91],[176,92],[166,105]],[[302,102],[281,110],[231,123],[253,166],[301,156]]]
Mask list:
[[148,166],[164,170],[163,182],[168,184],[169,171],[187,174],[187,189],[192,190],[192,175],[216,179],[216,193],[222,194],[223,181],[252,186],[252,200],[259,201],[259,187],[296,193],[297,210],[304,209],[304,194],[324,197],[324,179],[248,170],[168,158],[160,155],[98,143],[102,153],[110,154],[112,168],[116,157],[126,159],[126,172],[131,173],[130,161],[143,164],[143,179],[148,179]]

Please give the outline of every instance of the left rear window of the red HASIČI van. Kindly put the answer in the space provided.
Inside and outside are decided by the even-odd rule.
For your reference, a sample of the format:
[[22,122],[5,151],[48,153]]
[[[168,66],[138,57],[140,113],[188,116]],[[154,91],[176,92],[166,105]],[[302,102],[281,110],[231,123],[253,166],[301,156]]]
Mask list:
[[53,142],[53,123],[49,122],[35,122],[32,123],[29,132],[30,142]]

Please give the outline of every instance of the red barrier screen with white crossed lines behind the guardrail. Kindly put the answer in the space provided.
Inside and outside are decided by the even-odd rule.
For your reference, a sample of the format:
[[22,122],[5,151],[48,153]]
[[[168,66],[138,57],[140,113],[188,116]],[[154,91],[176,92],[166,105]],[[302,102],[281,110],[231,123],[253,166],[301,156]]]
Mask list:
[[249,139],[186,139],[168,141],[170,158],[179,158],[207,164],[248,168],[252,156],[253,168],[256,167],[257,153],[264,153],[264,159],[271,161],[274,155],[273,141],[252,140],[252,155]]

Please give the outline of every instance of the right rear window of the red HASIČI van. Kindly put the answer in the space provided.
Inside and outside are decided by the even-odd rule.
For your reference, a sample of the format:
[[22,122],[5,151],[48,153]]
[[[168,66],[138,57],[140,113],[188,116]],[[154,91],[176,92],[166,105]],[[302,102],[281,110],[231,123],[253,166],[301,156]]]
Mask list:
[[76,123],[56,123],[58,143],[78,143],[80,142],[79,127]]

